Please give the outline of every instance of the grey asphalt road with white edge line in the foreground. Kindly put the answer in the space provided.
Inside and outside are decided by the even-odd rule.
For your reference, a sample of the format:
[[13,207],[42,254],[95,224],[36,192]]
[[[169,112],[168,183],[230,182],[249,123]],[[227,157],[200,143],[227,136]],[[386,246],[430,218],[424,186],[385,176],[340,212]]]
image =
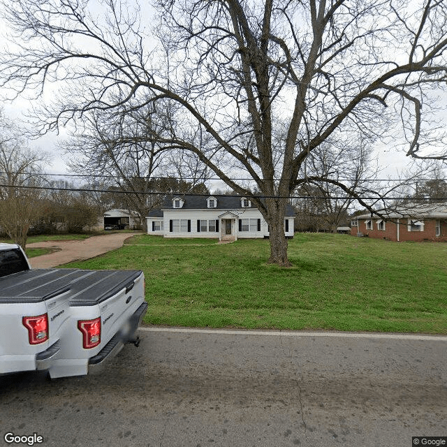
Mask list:
[[18,445],[6,432],[108,447],[411,447],[413,436],[447,436],[447,337],[140,334],[101,375],[0,377],[0,445]]

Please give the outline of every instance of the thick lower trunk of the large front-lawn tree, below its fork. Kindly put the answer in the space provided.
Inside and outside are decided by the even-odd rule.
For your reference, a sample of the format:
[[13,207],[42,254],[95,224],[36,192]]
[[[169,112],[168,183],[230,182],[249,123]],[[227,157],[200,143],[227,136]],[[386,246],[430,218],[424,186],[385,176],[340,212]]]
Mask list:
[[268,224],[270,232],[270,259],[269,264],[281,267],[291,267],[287,258],[287,239],[284,234],[284,215],[286,214],[286,201],[266,199],[268,208]]

